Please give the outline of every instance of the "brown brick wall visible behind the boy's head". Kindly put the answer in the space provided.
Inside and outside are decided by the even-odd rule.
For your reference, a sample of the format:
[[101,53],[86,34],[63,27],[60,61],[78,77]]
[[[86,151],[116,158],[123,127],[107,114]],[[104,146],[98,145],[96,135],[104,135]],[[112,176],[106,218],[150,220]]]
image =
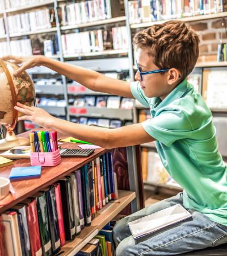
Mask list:
[[191,22],[188,25],[199,35],[200,60],[216,61],[218,43],[220,43],[221,39],[222,42],[227,43],[225,27],[222,26],[222,18]]

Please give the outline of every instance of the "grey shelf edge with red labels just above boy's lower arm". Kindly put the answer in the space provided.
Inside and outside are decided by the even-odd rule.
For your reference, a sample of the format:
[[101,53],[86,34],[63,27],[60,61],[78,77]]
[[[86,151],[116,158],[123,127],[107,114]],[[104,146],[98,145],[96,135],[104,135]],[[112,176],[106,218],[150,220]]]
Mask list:
[[108,108],[96,108],[96,107],[77,107],[68,106],[69,115],[79,117],[103,117],[103,118],[116,118],[116,119],[129,119],[132,120],[131,109],[108,109]]

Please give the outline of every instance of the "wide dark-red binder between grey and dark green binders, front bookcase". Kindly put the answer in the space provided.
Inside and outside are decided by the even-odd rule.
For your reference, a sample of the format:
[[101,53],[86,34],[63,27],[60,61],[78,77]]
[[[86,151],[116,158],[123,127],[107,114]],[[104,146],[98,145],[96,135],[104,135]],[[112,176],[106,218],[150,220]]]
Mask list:
[[39,220],[37,215],[36,199],[26,199],[22,202],[26,204],[26,215],[28,222],[28,232],[31,245],[32,256],[42,256],[43,250],[41,247]]

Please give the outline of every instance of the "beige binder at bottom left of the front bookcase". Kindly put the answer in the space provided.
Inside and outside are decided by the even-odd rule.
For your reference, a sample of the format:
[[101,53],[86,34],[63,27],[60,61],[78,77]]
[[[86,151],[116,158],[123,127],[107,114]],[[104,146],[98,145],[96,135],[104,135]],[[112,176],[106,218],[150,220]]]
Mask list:
[[18,228],[18,217],[16,212],[5,212],[2,214],[5,225],[5,241],[8,255],[23,256],[20,246],[20,235]]

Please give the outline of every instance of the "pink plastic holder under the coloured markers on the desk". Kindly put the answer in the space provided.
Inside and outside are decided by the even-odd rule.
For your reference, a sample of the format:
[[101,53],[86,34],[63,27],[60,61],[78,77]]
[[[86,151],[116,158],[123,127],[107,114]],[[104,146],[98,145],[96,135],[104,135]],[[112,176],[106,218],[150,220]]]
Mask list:
[[31,152],[31,166],[57,166],[61,163],[60,150],[54,152]]

